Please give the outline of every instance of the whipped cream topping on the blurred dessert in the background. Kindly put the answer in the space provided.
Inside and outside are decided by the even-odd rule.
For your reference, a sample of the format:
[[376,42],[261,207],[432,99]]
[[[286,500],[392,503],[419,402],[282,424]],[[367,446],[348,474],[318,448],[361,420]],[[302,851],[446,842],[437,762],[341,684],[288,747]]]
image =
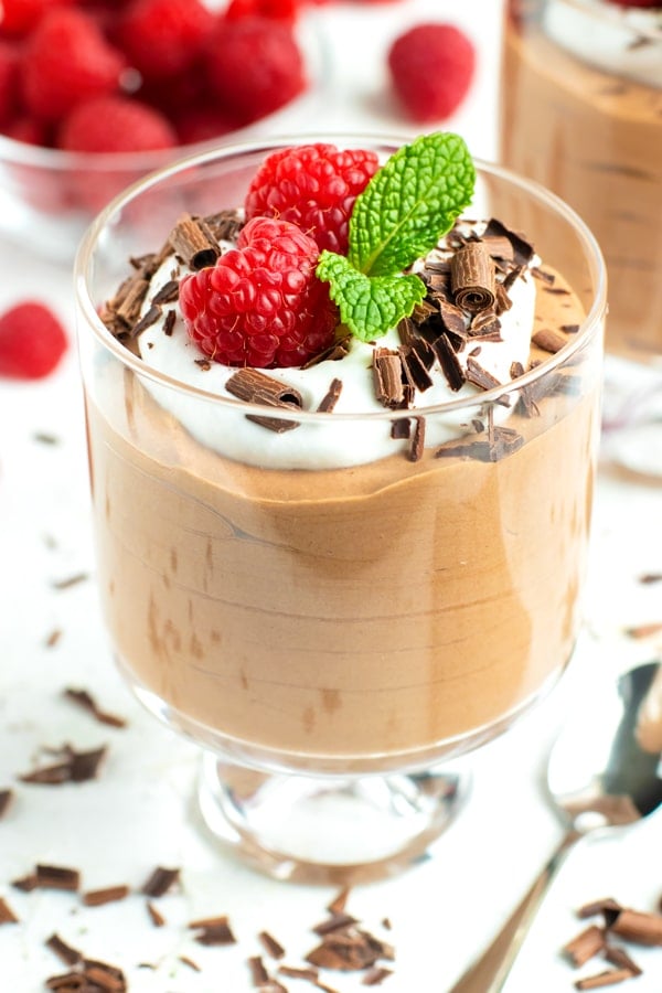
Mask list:
[[610,75],[662,87],[662,10],[609,0],[551,0],[545,33],[560,47]]

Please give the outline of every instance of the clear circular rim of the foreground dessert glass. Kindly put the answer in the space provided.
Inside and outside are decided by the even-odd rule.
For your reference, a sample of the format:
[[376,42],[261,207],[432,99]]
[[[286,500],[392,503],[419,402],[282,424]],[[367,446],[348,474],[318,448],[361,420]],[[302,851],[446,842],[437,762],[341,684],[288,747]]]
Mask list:
[[[78,312],[79,314],[83,314],[85,319],[86,333],[92,333],[94,338],[96,338],[98,343],[103,345],[106,352],[114,355],[125,369],[131,370],[131,372],[136,373],[136,375],[138,375],[140,378],[148,380],[151,383],[169,389],[173,389],[177,393],[186,395],[191,398],[212,403],[220,407],[241,409],[244,414],[255,414],[261,416],[268,414],[268,416],[271,418],[282,417],[286,419],[291,419],[292,414],[296,413],[297,421],[300,423],[329,423],[330,415],[328,413],[319,410],[300,410],[298,408],[296,409],[296,412],[292,412],[291,408],[285,409],[280,407],[267,406],[265,404],[246,403],[244,401],[234,399],[229,396],[222,396],[218,393],[210,389],[204,389],[199,386],[193,386],[189,383],[182,383],[174,376],[159,372],[154,369],[150,369],[145,360],[141,356],[136,355],[125,344],[122,344],[108,330],[108,328],[106,328],[106,325],[99,318],[96,305],[88,291],[95,248],[103,232],[109,225],[111,225],[113,217],[122,207],[127,206],[129,203],[135,201],[148,190],[158,186],[159,183],[161,183],[163,180],[170,179],[178,173],[184,173],[191,169],[204,167],[205,164],[223,159],[239,158],[244,154],[257,152],[264,152],[265,154],[268,154],[269,152],[275,151],[279,148],[286,148],[289,146],[302,143],[329,142],[339,145],[340,147],[342,147],[342,145],[352,147],[352,143],[354,143],[357,146],[365,145],[367,148],[382,146],[384,148],[393,148],[395,150],[401,145],[412,140],[413,138],[410,135],[382,135],[366,134],[364,131],[355,134],[329,132],[314,135],[296,134],[270,136],[263,139],[253,139],[242,142],[217,146],[214,149],[200,152],[197,154],[185,156],[170,162],[162,169],[156,170],[148,175],[142,177],[140,180],[127,186],[121,193],[109,201],[109,203],[97,214],[97,216],[89,224],[78,245],[78,249],[76,252],[74,260],[74,291],[76,301],[78,303]],[[457,399],[445,401],[441,404],[431,404],[429,406],[416,406],[402,409],[385,408],[384,410],[333,410],[333,414],[331,415],[333,420],[370,419],[393,421],[394,419],[407,417],[423,417],[434,414],[453,413],[470,407],[476,407],[477,403],[496,403],[500,398],[509,394],[519,392],[531,385],[532,383],[538,382],[544,376],[554,372],[559,365],[564,365],[577,351],[579,351],[584,346],[587,340],[591,339],[596,333],[598,333],[600,329],[600,322],[607,311],[607,269],[600,246],[598,245],[598,242],[589,227],[565,201],[563,201],[556,194],[552,193],[541,183],[519,175],[517,173],[512,172],[511,170],[505,169],[504,167],[499,166],[494,162],[489,162],[479,158],[474,158],[473,162],[479,175],[482,172],[484,174],[505,180],[506,182],[511,183],[511,185],[514,185],[525,192],[527,195],[533,195],[546,206],[553,209],[557,214],[562,215],[563,218],[568,222],[575,229],[581,248],[584,249],[585,257],[590,259],[590,268],[597,276],[594,300],[588,313],[585,316],[581,324],[579,325],[579,330],[573,335],[572,341],[569,341],[558,352],[551,355],[548,360],[541,362],[540,365],[536,365],[535,367],[528,370],[522,376],[519,376],[516,380],[512,380],[511,382],[503,385],[481,391],[480,393],[477,393],[472,396],[463,396]],[[78,320],[78,325],[81,325],[81,320]],[[81,330],[78,330],[78,337],[81,337]],[[271,371],[269,369],[264,369],[260,370],[260,372],[264,372],[268,375]],[[279,373],[284,374],[286,382],[287,367],[279,367]]]

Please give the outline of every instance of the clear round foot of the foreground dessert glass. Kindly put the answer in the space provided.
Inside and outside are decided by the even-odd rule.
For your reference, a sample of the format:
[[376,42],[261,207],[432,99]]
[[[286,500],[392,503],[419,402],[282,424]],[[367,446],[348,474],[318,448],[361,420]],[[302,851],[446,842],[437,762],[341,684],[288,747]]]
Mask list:
[[466,772],[313,777],[264,773],[205,752],[202,818],[254,868],[297,883],[353,885],[421,858],[462,807]]

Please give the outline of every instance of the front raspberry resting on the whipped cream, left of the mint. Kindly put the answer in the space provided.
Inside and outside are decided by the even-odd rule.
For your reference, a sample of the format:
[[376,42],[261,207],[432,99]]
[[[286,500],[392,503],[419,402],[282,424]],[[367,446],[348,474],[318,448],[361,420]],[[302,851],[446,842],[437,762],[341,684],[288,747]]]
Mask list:
[[318,254],[312,238],[287,221],[249,221],[236,248],[182,279],[190,337],[225,365],[302,365],[332,343],[338,320],[314,275]]

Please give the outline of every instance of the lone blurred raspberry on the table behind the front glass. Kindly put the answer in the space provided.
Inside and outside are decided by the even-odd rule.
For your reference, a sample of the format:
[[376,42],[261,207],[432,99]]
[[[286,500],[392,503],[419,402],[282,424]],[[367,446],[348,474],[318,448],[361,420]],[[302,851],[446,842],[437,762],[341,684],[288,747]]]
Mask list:
[[444,120],[465,98],[476,67],[476,50],[452,24],[418,24],[388,52],[393,87],[417,121]]

